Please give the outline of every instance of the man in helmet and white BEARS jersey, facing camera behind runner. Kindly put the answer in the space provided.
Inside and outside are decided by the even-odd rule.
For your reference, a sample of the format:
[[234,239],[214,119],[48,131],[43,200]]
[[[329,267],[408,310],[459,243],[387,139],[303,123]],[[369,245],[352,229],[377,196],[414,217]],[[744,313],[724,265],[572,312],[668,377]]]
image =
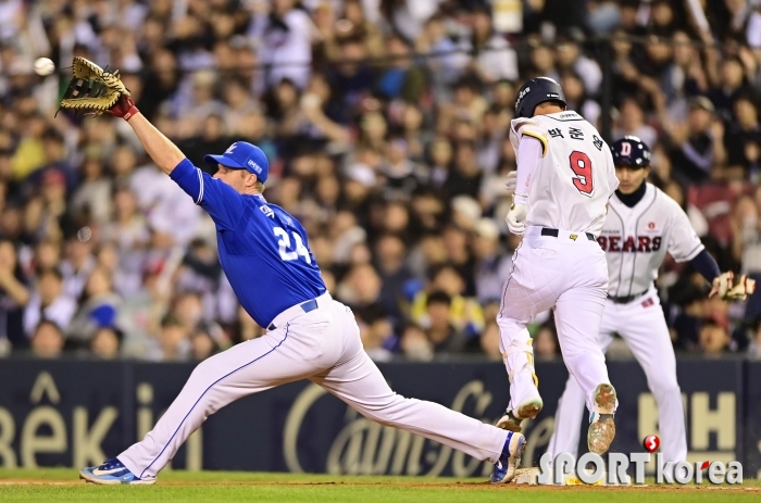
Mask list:
[[[650,173],[650,149],[639,138],[627,136],[612,147],[619,189],[598,242],[608,261],[608,301],[600,326],[602,351],[619,334],[643,366],[648,387],[658,403],[661,451],[664,462],[687,457],[685,413],[676,381],[676,361],[658,292],[653,286],[666,252],[687,262],[711,284],[710,295],[745,299],[752,280],[732,273],[720,275],[719,265],[703,248],[687,215],[663,191],[646,181]],[[731,290],[731,285],[737,286]],[[584,391],[573,376],[558,402],[554,432],[548,452],[576,455],[584,407]]]

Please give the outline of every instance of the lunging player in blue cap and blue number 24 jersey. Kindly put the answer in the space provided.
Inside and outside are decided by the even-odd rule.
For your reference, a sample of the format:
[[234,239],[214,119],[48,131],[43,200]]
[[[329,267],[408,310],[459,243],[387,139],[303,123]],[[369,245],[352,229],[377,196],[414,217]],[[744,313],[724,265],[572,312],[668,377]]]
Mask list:
[[525,449],[521,433],[398,395],[362,348],[349,307],[333,300],[301,224],[262,191],[269,163],[247,142],[207,155],[203,173],[121,95],[111,114],[128,121],[155,164],[211,215],[222,268],[238,300],[267,332],[200,363],[146,435],[115,458],[80,470],[96,483],[153,483],[179,447],[214,412],[242,397],[300,379],[322,386],[364,416],[495,463],[508,482]]

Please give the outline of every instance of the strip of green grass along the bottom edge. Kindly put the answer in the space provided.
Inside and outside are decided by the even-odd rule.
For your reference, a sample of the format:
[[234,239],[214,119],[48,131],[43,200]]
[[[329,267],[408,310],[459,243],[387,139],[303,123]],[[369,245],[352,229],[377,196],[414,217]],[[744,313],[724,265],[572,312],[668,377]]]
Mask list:
[[[13,482],[18,483],[13,483]],[[726,486],[725,486],[726,487]],[[760,501],[759,480],[733,489],[546,488],[491,486],[483,479],[367,477],[236,471],[165,471],[155,486],[77,482],[68,468],[0,469],[0,502],[362,502],[621,503]],[[647,494],[645,494],[647,492]]]

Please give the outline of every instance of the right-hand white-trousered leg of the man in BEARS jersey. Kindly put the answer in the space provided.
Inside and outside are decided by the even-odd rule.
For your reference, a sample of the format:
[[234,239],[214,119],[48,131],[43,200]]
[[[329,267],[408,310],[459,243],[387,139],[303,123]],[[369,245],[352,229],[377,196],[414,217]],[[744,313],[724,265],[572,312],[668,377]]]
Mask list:
[[664,461],[687,458],[687,433],[682,390],[676,380],[676,359],[658,295],[626,306],[626,319],[621,330],[632,353],[645,370],[648,386],[658,403],[658,424]]

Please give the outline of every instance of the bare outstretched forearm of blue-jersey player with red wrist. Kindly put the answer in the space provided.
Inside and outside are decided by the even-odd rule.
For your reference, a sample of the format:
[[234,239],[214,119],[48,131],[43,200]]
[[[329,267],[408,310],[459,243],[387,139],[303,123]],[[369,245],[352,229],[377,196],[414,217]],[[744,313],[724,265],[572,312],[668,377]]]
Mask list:
[[116,104],[109,110],[112,115],[122,117],[133,127],[142,147],[159,168],[171,174],[184,159],[185,154],[176,144],[155,128],[145,115],[137,110],[128,96],[122,95]]

